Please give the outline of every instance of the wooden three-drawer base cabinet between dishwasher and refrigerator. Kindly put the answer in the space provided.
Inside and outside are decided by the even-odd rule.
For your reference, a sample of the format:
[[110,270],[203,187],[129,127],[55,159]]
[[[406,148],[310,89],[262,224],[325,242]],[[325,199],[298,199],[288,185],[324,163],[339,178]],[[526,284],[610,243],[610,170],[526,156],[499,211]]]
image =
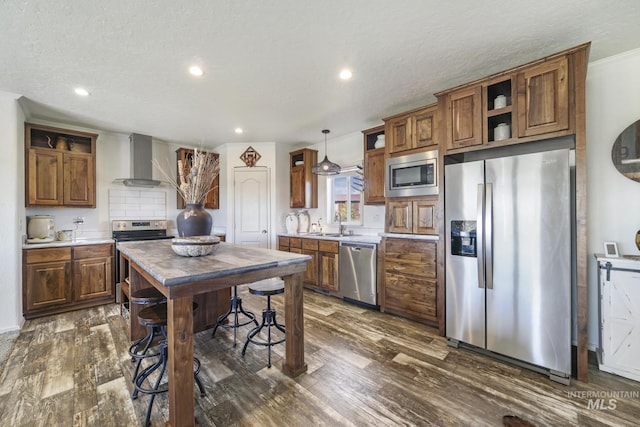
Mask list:
[[382,311],[437,324],[438,242],[385,238]]

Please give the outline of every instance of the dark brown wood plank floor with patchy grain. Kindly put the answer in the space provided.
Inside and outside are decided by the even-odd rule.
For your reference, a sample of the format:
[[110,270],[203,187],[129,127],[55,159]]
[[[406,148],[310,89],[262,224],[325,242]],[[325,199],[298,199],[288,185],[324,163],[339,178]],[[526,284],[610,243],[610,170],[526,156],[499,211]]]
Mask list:
[[[240,294],[260,315],[265,299]],[[273,300],[282,314],[282,297]],[[640,422],[637,382],[593,366],[589,384],[563,386],[449,348],[424,325],[309,291],[306,374],[282,374],[284,344],[274,347],[271,369],[262,347],[250,346],[242,358],[247,331],[235,348],[229,330],[196,335],[207,392],[196,396],[202,426],[499,426],[507,414],[538,426]],[[128,345],[115,305],[27,321],[0,377],[0,425],[142,425],[148,397],[130,398]],[[165,394],[151,422],[166,419]]]

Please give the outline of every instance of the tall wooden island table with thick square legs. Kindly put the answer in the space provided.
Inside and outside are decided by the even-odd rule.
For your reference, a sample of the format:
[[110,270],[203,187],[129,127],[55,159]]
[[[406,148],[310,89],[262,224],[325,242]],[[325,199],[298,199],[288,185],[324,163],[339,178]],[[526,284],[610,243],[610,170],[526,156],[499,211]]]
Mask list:
[[234,285],[282,277],[286,350],[282,371],[295,377],[306,372],[302,275],[308,255],[220,243],[203,257],[181,257],[170,241],[118,243],[130,268],[167,297],[170,426],[193,426],[193,297]]

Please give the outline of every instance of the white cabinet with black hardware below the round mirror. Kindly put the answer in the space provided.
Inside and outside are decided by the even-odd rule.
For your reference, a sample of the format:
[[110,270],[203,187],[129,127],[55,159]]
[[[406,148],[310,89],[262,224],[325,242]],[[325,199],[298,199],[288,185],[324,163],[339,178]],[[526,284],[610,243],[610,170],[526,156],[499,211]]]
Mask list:
[[640,257],[597,260],[600,370],[640,381]]

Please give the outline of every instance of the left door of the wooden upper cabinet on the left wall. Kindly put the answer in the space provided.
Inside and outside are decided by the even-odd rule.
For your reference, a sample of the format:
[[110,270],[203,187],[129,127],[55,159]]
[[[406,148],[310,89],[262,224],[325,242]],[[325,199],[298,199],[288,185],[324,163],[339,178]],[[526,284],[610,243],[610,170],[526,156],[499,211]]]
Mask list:
[[28,206],[62,204],[63,164],[61,151],[29,150]]

